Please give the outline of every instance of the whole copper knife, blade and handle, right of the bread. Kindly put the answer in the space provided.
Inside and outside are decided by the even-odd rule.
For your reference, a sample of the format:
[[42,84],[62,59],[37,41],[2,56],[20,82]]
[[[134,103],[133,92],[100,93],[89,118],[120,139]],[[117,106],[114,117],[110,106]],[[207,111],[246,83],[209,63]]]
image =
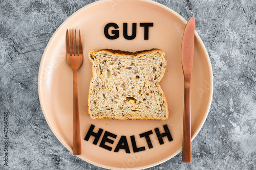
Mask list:
[[190,80],[193,66],[195,41],[195,17],[191,17],[186,25],[181,44],[181,63],[184,74],[184,115],[182,161],[191,162],[191,113],[190,113]]

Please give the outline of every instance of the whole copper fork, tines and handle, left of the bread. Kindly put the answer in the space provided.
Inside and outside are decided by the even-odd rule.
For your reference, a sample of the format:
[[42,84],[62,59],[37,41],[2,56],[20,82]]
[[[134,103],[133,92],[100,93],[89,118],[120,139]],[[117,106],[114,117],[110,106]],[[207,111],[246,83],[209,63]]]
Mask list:
[[79,108],[78,108],[78,90],[77,90],[77,70],[82,64],[82,42],[79,30],[79,47],[76,41],[75,30],[75,43],[73,43],[73,30],[71,31],[71,50],[69,40],[69,30],[66,33],[66,49],[67,61],[73,71],[73,155],[81,154],[81,136],[80,136],[80,123],[79,123]]

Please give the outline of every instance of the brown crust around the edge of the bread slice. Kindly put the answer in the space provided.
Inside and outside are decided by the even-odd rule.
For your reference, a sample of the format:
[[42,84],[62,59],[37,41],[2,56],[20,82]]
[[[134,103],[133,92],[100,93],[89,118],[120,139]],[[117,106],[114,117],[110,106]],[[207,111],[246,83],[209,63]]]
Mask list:
[[[122,56],[134,56],[134,57],[137,57],[138,55],[141,55],[141,54],[145,54],[145,53],[150,53],[150,52],[154,52],[154,51],[160,51],[161,53],[165,54],[162,50],[158,49],[158,48],[152,48],[151,50],[143,50],[143,51],[137,51],[137,52],[127,52],[127,51],[121,51],[121,50],[112,50],[112,49],[108,49],[108,48],[104,48],[104,49],[101,49],[101,50],[91,50],[88,54],[89,56],[89,59],[90,61],[92,61],[91,57],[90,57],[90,54],[92,52],[108,52],[108,53],[111,53],[111,54],[114,54],[114,55],[122,55]],[[138,117],[138,118],[111,118],[111,117],[108,117],[108,116],[105,116],[105,117],[96,117],[96,118],[92,118],[90,116],[90,109],[89,109],[89,95],[90,95],[90,91],[91,91],[91,86],[92,86],[92,79],[94,77],[94,74],[95,72],[93,71],[93,64],[92,64],[92,77],[91,77],[91,80],[90,80],[90,86],[89,86],[89,93],[88,93],[88,114],[89,116],[91,117],[91,119],[103,119],[103,118],[108,118],[108,119],[113,119],[113,120],[167,120],[169,118],[169,111],[168,111],[168,105],[167,105],[167,100],[166,100],[166,97],[164,95],[164,92],[160,86],[160,82],[164,76],[164,73],[165,73],[165,69],[166,69],[166,60],[164,60],[165,62],[165,66],[164,66],[164,71],[162,72],[162,74],[160,75],[159,79],[158,79],[158,88],[159,90],[161,91],[161,94],[163,95],[164,97],[164,101],[166,102],[166,117],[164,118],[159,118],[159,117]]]

